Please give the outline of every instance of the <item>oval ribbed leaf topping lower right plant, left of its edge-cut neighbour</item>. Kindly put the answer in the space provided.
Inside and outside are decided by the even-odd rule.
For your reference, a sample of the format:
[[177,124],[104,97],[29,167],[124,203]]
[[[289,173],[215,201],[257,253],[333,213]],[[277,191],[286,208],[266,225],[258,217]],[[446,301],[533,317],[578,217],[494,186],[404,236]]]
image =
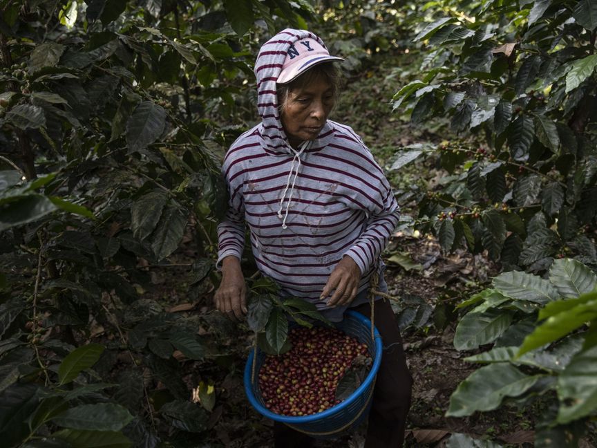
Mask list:
[[559,297],[549,281],[527,272],[504,272],[493,279],[493,287],[513,299],[543,305]]

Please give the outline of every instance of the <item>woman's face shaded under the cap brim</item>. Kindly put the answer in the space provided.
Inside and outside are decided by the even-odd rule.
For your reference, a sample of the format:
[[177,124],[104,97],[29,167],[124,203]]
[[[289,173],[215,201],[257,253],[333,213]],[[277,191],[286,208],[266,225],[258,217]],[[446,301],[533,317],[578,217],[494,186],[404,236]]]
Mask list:
[[282,126],[292,147],[314,140],[334,107],[332,85],[323,76],[288,93],[282,110]]

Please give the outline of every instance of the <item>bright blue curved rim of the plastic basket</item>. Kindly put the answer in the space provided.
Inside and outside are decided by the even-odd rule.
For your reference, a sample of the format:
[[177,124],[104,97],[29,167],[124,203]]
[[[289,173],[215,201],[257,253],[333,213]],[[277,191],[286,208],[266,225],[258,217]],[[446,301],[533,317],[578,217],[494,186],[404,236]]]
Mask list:
[[[349,319],[354,319],[359,321],[363,326],[366,326],[367,328],[371,328],[371,321],[364,315],[362,315],[360,312],[354,311],[354,310],[348,310],[345,313],[344,318],[349,318]],[[249,402],[251,403],[251,405],[254,407],[254,409],[256,411],[258,411],[258,413],[260,413],[261,415],[274,420],[276,422],[283,422],[283,423],[289,423],[289,424],[293,424],[293,425],[299,425],[302,423],[312,423],[312,422],[316,422],[319,420],[323,420],[325,418],[328,418],[330,416],[334,416],[335,414],[341,412],[343,409],[347,408],[350,406],[350,404],[352,404],[352,402],[354,402],[355,400],[357,400],[363,393],[366,392],[366,390],[368,389],[368,387],[372,384],[373,380],[375,380],[375,377],[377,375],[377,371],[379,370],[379,364],[381,363],[381,351],[383,349],[382,344],[381,344],[381,335],[379,334],[379,331],[377,330],[377,328],[375,328],[375,358],[373,360],[373,365],[371,366],[371,370],[369,371],[367,377],[365,378],[365,380],[363,381],[363,383],[357,388],[356,391],[352,392],[348,398],[346,398],[345,400],[343,400],[341,403],[336,404],[334,407],[331,407],[330,409],[326,409],[323,412],[319,412],[319,413],[314,413],[314,414],[310,414],[309,416],[282,416],[281,414],[276,414],[273,413],[272,411],[269,411],[269,409],[267,409],[265,406],[263,406],[262,404],[260,404],[260,402],[258,402],[254,390],[253,390],[253,384],[251,382],[251,373],[252,373],[252,366],[253,366],[253,356],[254,356],[254,352],[251,351],[249,353],[249,358],[247,359],[247,364],[245,364],[245,375],[244,375],[244,383],[245,383],[245,394],[247,395],[247,398],[249,399]]]

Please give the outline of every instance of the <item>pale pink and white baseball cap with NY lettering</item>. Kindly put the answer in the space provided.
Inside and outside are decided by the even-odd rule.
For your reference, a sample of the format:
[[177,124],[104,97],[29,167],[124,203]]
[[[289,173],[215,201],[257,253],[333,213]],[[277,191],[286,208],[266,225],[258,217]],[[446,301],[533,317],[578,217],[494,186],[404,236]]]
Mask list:
[[276,83],[291,82],[301,73],[322,62],[343,60],[341,57],[330,56],[330,52],[315,39],[300,39],[288,48],[282,71],[278,75]]

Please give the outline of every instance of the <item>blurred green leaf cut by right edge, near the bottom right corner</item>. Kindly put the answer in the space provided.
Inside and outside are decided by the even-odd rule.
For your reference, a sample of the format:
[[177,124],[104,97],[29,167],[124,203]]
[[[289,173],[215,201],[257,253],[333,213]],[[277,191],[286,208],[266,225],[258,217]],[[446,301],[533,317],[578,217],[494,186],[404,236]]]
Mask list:
[[597,346],[577,353],[558,377],[558,423],[591,416],[597,409]]

